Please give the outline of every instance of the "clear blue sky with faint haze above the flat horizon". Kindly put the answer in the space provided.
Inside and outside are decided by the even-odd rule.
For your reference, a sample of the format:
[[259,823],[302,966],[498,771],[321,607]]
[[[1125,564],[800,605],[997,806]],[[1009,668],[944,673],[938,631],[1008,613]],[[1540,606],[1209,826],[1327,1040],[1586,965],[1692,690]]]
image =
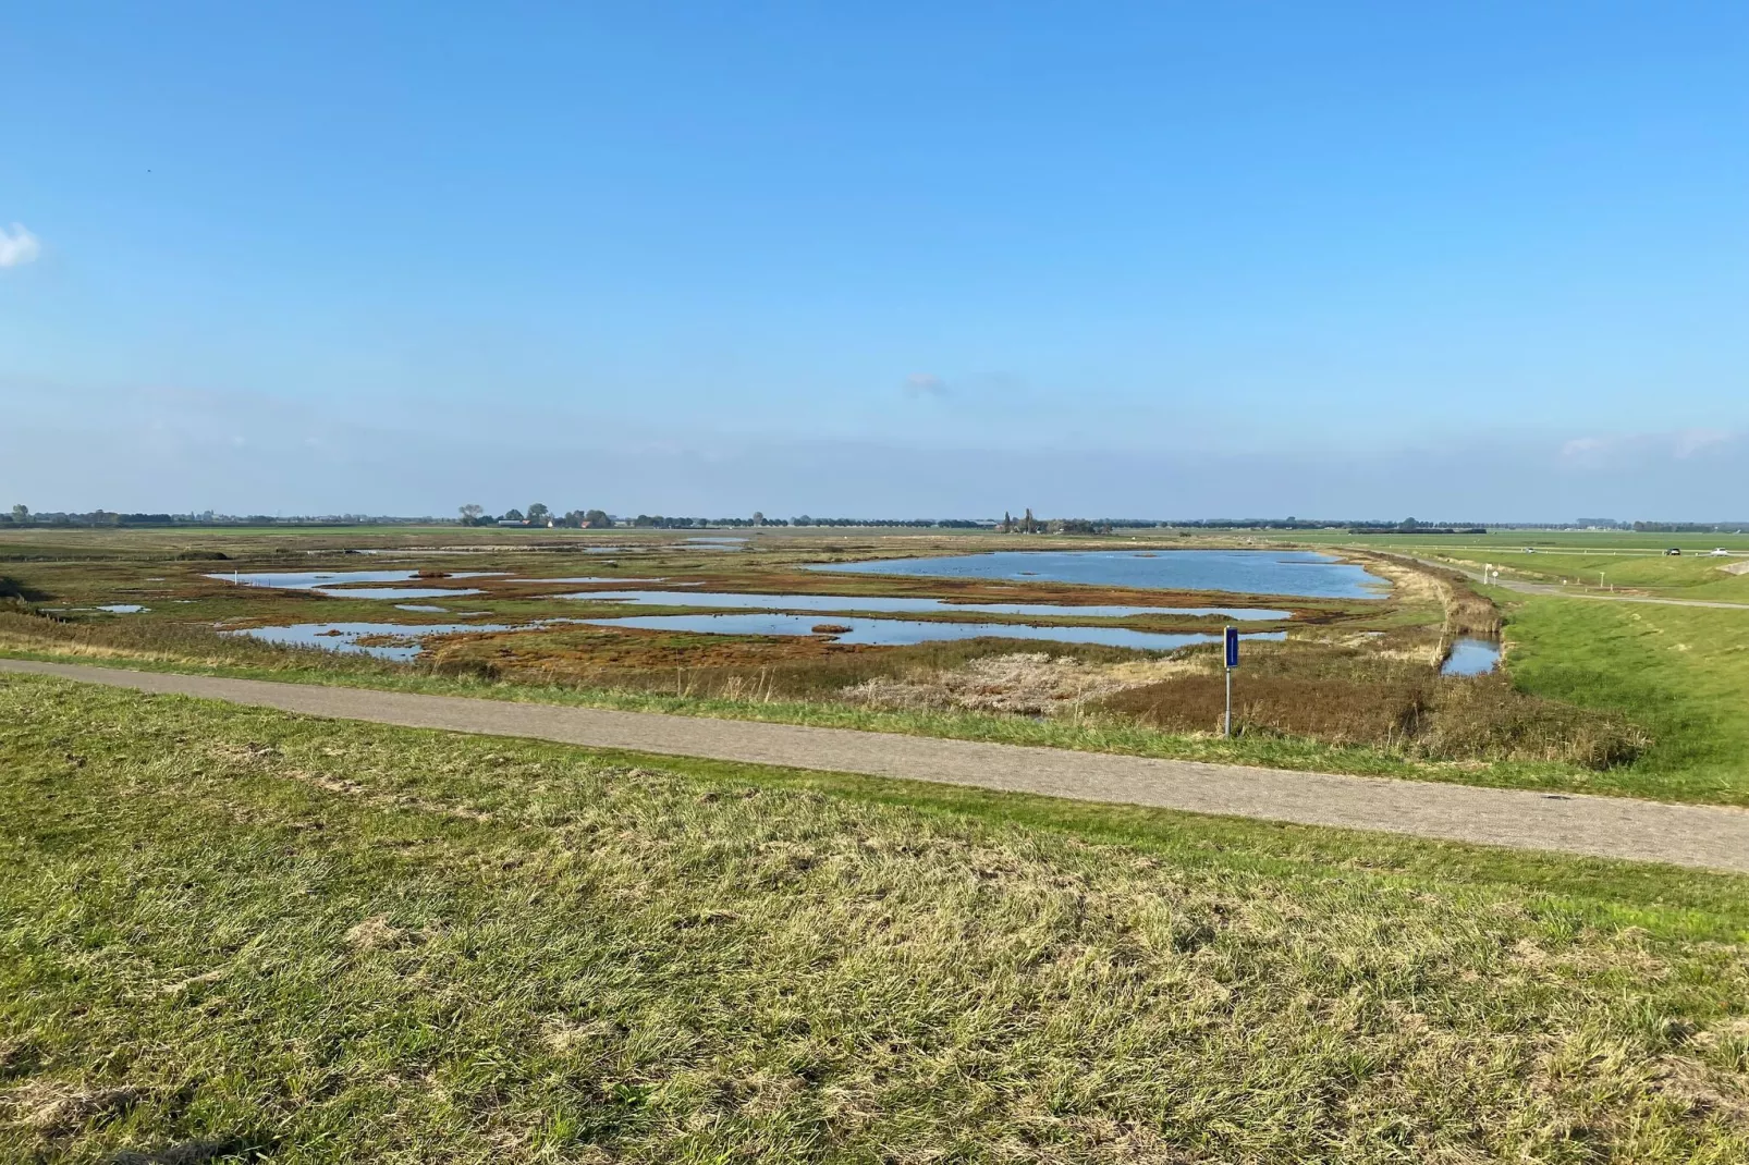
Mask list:
[[1742,3],[5,28],[3,504],[1749,516]]

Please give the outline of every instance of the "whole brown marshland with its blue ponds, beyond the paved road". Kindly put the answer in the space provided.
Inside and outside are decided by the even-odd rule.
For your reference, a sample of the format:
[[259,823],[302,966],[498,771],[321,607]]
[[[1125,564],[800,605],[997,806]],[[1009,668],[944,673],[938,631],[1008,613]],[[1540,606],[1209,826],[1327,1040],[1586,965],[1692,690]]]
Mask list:
[[[0,647],[1749,801],[1749,778],[1721,766],[1697,778],[1672,759],[1693,752],[1691,729],[1672,733],[1642,701],[1599,698],[1564,675],[1583,651],[1551,670],[1555,607],[1474,581],[1474,563],[1511,549],[1501,535],[1429,548],[1324,532],[764,528],[701,542],[647,530],[17,530],[0,534]],[[1578,577],[1579,563],[1609,558],[1635,582],[1742,586],[1632,539],[1597,548],[1567,535],[1539,549],[1509,569],[1558,577],[1571,562]],[[1216,640],[1230,623],[1244,659],[1235,733],[1223,738]]]

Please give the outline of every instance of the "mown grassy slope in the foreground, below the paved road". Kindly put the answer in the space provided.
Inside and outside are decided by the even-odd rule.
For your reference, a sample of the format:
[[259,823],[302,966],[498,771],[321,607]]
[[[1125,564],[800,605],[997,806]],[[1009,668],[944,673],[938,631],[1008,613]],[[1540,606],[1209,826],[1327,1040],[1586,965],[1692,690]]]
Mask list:
[[35,677],[0,866],[0,1160],[1749,1158],[1735,878]]

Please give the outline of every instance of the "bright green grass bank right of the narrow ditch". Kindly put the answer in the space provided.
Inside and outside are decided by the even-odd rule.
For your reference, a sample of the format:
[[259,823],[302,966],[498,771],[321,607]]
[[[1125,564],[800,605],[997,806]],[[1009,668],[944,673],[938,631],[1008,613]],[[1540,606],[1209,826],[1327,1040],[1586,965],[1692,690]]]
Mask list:
[[1749,610],[1527,598],[1508,638],[1527,691],[1649,729],[1653,747],[1599,782],[1749,805]]

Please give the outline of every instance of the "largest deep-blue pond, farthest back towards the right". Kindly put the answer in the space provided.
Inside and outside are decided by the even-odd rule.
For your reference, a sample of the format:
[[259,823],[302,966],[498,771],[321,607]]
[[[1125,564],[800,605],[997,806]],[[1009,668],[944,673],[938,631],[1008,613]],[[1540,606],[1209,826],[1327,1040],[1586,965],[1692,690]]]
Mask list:
[[951,558],[815,563],[808,569],[1305,598],[1382,598],[1390,588],[1362,567],[1315,551],[990,551]]

